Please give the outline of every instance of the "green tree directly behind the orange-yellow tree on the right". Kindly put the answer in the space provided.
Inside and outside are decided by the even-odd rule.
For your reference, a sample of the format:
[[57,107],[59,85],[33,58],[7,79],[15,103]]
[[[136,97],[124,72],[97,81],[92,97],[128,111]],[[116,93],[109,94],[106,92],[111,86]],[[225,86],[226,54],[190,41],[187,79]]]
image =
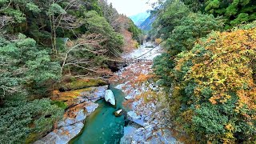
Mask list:
[[214,18],[209,14],[191,13],[182,18],[165,42],[166,54],[154,60],[154,71],[163,78],[163,84],[170,86],[170,80],[174,80],[171,71],[175,66],[173,62],[177,54],[191,50],[198,38],[210,34],[212,30],[221,30],[222,26],[221,18]]

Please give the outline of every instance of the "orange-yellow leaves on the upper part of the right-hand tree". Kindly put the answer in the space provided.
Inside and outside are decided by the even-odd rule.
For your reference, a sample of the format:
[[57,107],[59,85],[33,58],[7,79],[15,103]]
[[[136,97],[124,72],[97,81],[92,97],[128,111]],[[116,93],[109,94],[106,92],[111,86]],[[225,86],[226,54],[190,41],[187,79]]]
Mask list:
[[[206,52],[201,54],[202,50]],[[185,82],[197,83],[194,96],[203,98],[202,90],[208,87],[213,90],[208,100],[216,105],[227,102],[234,96],[230,92],[234,92],[238,97],[235,111],[239,113],[244,107],[256,110],[255,72],[252,69],[255,58],[256,28],[214,32],[199,41],[193,50],[179,54],[174,70],[182,72],[186,62],[191,60],[193,66],[184,78]],[[178,93],[178,90],[174,92]]]

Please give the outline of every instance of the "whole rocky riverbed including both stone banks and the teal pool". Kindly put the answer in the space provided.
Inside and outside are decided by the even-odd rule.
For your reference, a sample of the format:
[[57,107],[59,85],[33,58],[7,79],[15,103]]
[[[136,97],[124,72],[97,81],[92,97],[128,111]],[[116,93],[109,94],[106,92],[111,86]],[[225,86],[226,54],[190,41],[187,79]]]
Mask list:
[[[66,102],[69,108],[54,131],[34,143],[177,143],[168,127],[165,94],[151,68],[159,54],[161,47],[147,42],[122,55],[138,61],[114,73],[110,86],[100,82],[104,86],[83,88],[87,80],[79,80],[63,86],[63,92],[55,91],[51,99]],[[103,100],[107,89],[113,91],[116,106]],[[115,117],[117,110],[124,115]]]

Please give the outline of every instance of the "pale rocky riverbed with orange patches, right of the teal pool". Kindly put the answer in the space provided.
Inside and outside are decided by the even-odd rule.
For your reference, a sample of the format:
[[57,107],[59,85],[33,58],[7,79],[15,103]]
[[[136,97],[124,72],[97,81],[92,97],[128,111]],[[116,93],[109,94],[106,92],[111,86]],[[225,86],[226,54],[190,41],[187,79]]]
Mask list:
[[140,61],[110,78],[110,82],[118,84],[116,88],[126,94],[123,105],[130,107],[127,117],[131,122],[124,129],[121,143],[178,143],[170,131],[168,105],[152,73],[153,62],[149,61],[161,54],[161,47],[154,48],[154,44],[148,42],[138,50],[124,54],[123,58],[138,58],[142,54]]

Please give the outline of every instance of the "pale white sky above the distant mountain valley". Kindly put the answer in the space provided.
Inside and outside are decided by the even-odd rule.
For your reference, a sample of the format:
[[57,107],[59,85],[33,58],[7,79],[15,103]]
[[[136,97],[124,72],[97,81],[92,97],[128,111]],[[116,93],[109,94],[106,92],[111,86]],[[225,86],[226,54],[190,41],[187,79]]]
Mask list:
[[156,2],[157,0],[107,0],[113,7],[118,10],[119,14],[126,14],[130,17],[139,13],[150,10],[151,6],[146,2]]

